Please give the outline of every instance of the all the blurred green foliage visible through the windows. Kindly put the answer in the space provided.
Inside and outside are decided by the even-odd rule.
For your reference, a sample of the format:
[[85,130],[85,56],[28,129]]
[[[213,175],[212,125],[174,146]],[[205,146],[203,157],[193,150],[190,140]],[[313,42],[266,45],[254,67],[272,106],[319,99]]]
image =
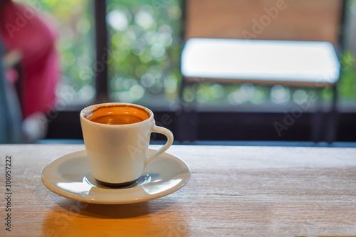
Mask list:
[[[88,101],[95,95],[93,1],[18,0],[50,13],[58,30],[62,81],[58,90],[74,90]],[[348,14],[356,0],[348,2]],[[120,102],[176,100],[182,50],[182,7],[180,0],[108,0],[108,60],[110,99]],[[342,77],[338,91],[342,102],[356,103],[355,55],[342,54]],[[263,105],[303,102],[312,89],[275,85],[220,85],[197,83],[186,88],[184,100],[199,103]],[[321,94],[330,100],[330,89]]]

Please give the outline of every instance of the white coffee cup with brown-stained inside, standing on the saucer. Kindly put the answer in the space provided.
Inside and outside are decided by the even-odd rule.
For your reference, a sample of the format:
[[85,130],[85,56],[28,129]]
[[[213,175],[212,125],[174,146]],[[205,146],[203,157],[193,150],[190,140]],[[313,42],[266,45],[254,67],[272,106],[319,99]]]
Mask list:
[[[105,121],[128,123],[107,124]],[[147,164],[165,152],[173,142],[172,132],[156,126],[153,112],[140,105],[116,102],[91,105],[80,112],[80,123],[90,173],[107,186],[135,183]],[[167,142],[147,156],[152,132],[162,133]]]

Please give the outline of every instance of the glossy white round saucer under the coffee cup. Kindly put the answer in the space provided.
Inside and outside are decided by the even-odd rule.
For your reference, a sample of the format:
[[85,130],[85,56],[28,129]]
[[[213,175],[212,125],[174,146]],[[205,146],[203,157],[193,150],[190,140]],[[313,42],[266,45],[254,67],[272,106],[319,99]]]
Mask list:
[[[148,154],[155,152],[148,150]],[[190,178],[182,159],[164,153],[145,169],[135,184],[109,188],[98,184],[89,172],[85,150],[66,154],[48,164],[42,172],[43,184],[53,193],[93,204],[133,204],[157,199],[182,188]]]

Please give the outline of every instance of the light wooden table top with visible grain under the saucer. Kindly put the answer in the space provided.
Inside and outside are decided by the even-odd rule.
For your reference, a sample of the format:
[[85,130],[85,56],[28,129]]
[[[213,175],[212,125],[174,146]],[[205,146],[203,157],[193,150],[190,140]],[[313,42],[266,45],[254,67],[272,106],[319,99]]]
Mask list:
[[356,236],[356,149],[173,146],[169,153],[191,168],[187,186],[140,204],[100,205],[41,182],[46,164],[83,148],[0,145],[0,236]]

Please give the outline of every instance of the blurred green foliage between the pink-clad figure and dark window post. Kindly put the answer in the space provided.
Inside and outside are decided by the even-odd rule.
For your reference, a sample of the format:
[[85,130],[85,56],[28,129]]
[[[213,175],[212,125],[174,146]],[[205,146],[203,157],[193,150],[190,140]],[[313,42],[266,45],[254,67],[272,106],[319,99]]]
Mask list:
[[75,94],[76,100],[81,98],[85,101],[93,98],[95,29],[92,2],[87,0],[16,2],[35,10],[57,34],[56,48],[62,72],[58,94],[61,94],[61,90],[67,90]]

